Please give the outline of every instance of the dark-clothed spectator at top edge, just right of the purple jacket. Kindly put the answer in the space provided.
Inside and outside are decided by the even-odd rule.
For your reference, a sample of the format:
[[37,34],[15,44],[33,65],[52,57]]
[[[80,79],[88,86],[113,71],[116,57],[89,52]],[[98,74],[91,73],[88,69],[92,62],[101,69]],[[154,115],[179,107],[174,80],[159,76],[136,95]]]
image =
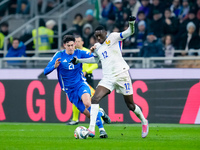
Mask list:
[[164,14],[164,10],[165,10],[165,3],[164,2],[160,2],[160,0],[153,0],[153,4],[152,4],[152,7],[150,9],[148,18],[153,19],[153,12],[155,10],[158,10],[163,15]]

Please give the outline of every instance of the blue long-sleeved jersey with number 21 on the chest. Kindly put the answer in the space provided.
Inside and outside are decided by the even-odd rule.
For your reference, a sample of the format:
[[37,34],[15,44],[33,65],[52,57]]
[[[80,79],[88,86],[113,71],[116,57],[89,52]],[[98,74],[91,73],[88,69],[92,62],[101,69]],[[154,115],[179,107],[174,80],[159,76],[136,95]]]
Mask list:
[[74,88],[79,87],[78,85],[86,80],[82,73],[82,64],[73,65],[70,61],[73,57],[89,58],[92,56],[93,55],[89,55],[89,52],[79,49],[75,50],[72,55],[68,55],[65,50],[58,51],[44,69],[44,74],[47,75],[52,72],[55,69],[54,65],[56,59],[61,58],[59,60],[61,63],[57,68],[58,81],[62,90],[68,93]]

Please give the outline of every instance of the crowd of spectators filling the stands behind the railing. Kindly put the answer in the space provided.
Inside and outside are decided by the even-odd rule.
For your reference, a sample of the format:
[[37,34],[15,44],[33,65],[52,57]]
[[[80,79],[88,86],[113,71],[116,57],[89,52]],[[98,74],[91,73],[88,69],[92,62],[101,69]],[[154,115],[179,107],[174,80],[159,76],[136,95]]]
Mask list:
[[[28,0],[15,1],[29,2]],[[49,0],[48,4],[53,2],[56,0]],[[28,3],[26,6],[28,7]],[[74,16],[73,26],[68,28],[69,34],[79,34],[83,38],[86,48],[90,48],[95,43],[93,31],[99,24],[104,25],[108,33],[121,32],[128,27],[128,17],[133,15],[137,17],[135,34],[123,41],[123,48],[140,49],[140,51],[125,53],[124,56],[200,56],[199,51],[190,52],[190,50],[200,49],[200,0],[101,0],[99,8],[99,15],[95,13],[97,10],[92,9],[86,10],[85,14],[77,13]],[[19,10],[16,7],[15,12],[25,14],[27,9],[24,8],[22,11],[22,8]],[[40,29],[45,32],[41,33]],[[27,26],[19,40],[26,42],[27,39],[35,37],[35,30],[33,26]],[[62,31],[66,30],[67,26],[63,24]],[[2,41],[8,33],[8,23],[4,22],[0,28],[0,49],[3,49]],[[57,33],[56,21],[40,20],[39,35],[42,38],[39,41],[39,50],[60,49],[57,47],[57,38],[52,37]],[[34,50],[35,41],[26,45],[26,50]],[[10,42],[9,47],[11,45]],[[175,53],[175,49],[184,52]],[[170,60],[165,61],[167,65],[171,63]]]

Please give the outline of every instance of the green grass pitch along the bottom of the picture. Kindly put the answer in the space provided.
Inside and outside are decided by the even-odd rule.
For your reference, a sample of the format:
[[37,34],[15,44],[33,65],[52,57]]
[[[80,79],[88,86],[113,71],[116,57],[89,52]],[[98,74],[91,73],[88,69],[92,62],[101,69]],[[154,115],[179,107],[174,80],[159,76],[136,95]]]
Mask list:
[[77,126],[65,123],[0,123],[0,150],[200,150],[200,125],[150,124],[149,135],[141,138],[140,124],[105,125],[108,139],[96,136],[77,140]]

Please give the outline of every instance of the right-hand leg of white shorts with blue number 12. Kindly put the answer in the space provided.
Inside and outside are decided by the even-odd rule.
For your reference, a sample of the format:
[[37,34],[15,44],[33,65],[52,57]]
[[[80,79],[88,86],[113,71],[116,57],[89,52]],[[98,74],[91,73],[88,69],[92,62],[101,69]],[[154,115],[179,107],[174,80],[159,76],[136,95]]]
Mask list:
[[128,71],[121,73],[115,79],[115,89],[117,93],[121,93],[123,95],[132,95],[133,87],[132,81]]

